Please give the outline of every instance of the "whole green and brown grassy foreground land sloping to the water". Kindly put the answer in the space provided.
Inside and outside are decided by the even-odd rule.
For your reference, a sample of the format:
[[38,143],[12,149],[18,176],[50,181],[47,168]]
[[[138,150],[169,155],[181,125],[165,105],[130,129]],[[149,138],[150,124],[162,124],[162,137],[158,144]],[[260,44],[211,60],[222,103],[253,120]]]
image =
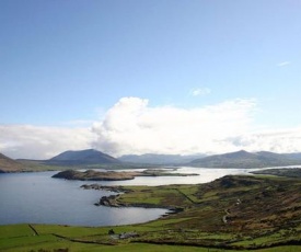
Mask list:
[[2,226],[0,251],[301,251],[300,187],[300,179],[230,175],[198,185],[121,186],[126,193],[112,199],[119,205],[182,211],[119,227]]

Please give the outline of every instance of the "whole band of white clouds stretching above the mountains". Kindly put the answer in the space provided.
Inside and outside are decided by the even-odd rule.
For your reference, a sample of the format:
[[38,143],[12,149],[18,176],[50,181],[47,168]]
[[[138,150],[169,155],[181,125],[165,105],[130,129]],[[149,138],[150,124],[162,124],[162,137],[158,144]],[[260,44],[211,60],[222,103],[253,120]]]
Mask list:
[[95,148],[114,157],[142,153],[301,151],[301,127],[257,130],[255,100],[182,108],[150,106],[123,98],[90,127],[0,125],[0,152],[12,158],[47,159],[66,150]]

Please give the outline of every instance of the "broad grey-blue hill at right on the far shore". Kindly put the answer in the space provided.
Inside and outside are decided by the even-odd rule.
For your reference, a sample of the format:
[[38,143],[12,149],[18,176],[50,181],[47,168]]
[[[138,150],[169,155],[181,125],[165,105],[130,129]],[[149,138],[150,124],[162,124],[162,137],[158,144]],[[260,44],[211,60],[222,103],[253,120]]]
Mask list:
[[[298,156],[296,156],[298,157]],[[244,150],[193,160],[188,165],[202,168],[267,168],[301,164],[301,159],[268,151]]]

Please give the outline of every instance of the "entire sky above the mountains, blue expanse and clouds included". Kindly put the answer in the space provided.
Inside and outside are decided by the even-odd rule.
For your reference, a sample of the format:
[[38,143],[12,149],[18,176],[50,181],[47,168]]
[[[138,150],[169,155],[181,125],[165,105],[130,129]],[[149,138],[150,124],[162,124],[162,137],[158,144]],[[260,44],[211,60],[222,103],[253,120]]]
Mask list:
[[1,0],[0,152],[301,152],[300,0]]

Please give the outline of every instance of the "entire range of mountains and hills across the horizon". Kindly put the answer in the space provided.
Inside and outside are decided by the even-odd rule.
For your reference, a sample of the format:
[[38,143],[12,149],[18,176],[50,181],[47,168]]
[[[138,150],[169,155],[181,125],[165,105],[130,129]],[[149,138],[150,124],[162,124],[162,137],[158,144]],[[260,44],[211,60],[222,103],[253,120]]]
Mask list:
[[[73,167],[79,169],[96,164],[121,164],[130,168],[130,163],[137,165],[187,165],[197,168],[268,168],[301,165],[301,153],[274,153],[268,151],[247,152],[245,150],[224,154],[177,156],[177,154],[142,154],[124,156],[116,159],[99,150],[68,150],[48,160],[13,160],[0,153],[0,172],[32,171],[33,164],[45,165],[46,169],[61,170],[61,167]],[[35,169],[36,170],[36,169]],[[42,169],[40,169],[42,170]]]

